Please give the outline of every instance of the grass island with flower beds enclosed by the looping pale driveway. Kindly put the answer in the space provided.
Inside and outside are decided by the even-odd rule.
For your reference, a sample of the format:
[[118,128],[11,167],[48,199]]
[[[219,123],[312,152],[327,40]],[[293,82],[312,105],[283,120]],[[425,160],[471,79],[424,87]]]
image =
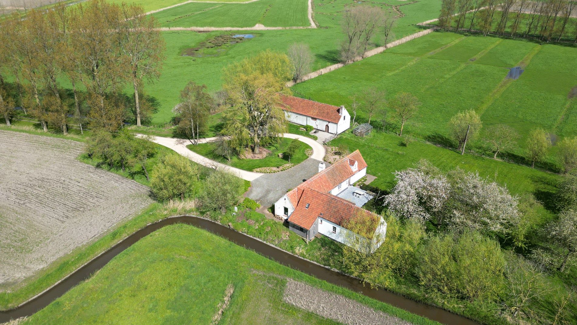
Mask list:
[[[278,154],[283,153],[288,148],[293,139],[282,138],[280,144],[273,144],[266,147],[268,150],[271,151],[263,159],[239,159],[237,156],[234,156],[230,162],[223,158],[223,156],[219,156],[213,154],[213,150],[216,147],[216,143],[209,142],[209,143],[201,143],[201,144],[189,144],[186,147],[190,150],[196,152],[197,154],[203,155],[209,159],[216,160],[218,162],[226,163],[227,165],[237,167],[239,169],[252,171],[257,168],[261,167],[280,167],[288,163],[287,158],[279,158]],[[305,150],[310,149],[308,144],[302,143],[299,141],[300,147],[298,148],[296,154],[291,157],[290,163],[297,165],[298,163],[303,162],[308,156],[305,154]]]

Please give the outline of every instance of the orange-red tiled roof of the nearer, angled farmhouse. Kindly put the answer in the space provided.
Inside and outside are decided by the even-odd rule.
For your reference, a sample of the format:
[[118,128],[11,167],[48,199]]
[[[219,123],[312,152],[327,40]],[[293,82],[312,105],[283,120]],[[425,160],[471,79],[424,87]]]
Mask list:
[[[358,169],[351,168],[355,161]],[[295,207],[288,221],[306,229],[322,214],[322,218],[339,226],[355,215],[375,215],[373,212],[355,206],[353,203],[329,193],[337,185],[366,167],[365,159],[358,150],[335,162],[327,169],[309,178],[287,193],[288,199]],[[306,204],[309,207],[306,208]]]

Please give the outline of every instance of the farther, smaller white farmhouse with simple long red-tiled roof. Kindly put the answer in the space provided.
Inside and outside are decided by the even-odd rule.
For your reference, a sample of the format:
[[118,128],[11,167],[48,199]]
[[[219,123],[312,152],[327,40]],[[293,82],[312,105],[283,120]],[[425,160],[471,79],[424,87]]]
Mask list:
[[338,135],[351,126],[351,115],[344,106],[332,106],[294,96],[282,96],[282,108],[289,122],[310,125]]

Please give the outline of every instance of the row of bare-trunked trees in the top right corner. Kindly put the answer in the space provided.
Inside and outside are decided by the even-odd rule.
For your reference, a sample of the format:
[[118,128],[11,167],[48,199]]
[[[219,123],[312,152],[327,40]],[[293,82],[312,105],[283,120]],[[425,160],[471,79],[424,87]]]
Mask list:
[[439,26],[483,35],[577,43],[574,0],[443,0]]

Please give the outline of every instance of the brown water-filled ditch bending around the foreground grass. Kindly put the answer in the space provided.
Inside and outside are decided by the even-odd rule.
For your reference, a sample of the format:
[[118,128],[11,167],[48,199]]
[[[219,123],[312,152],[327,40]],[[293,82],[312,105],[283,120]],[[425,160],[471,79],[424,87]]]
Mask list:
[[329,283],[333,283],[334,285],[342,286],[349,290],[353,290],[354,292],[364,294],[367,297],[386,302],[387,304],[394,305],[395,307],[404,309],[411,313],[428,317],[429,319],[436,320],[437,322],[451,325],[478,325],[478,323],[473,322],[470,319],[445,311],[444,309],[422,304],[421,302],[410,300],[409,298],[399,296],[398,294],[389,292],[387,290],[370,289],[370,287],[364,286],[362,282],[356,278],[349,277],[348,275],[344,275],[334,270],[330,270],[319,264],[312,263],[308,260],[302,259],[301,257],[283,251],[282,249],[266,244],[265,242],[257,240],[256,238],[247,236],[246,234],[239,233],[236,230],[220,225],[219,223],[215,223],[203,218],[198,218],[196,216],[177,216],[174,218],[168,218],[136,231],[136,233],[133,233],[125,240],[108,249],[108,251],[102,253],[98,257],[95,257],[95,259],[91,260],[84,266],[78,268],[78,270],[70,274],[69,277],[63,279],[61,282],[58,282],[56,285],[46,290],[45,292],[39,294],[31,300],[28,300],[27,302],[24,302],[14,309],[10,309],[9,311],[1,311],[0,323],[8,322],[10,319],[32,315],[33,313],[46,307],[53,300],[62,296],[78,283],[90,278],[94,272],[105,266],[108,262],[110,262],[111,259],[113,259],[114,256],[117,256],[126,248],[129,248],[132,244],[141,238],[164,226],[174,225],[175,223],[185,223],[187,225],[192,225],[200,229],[210,231],[211,233],[226,238],[235,244],[244,246],[248,249],[252,249],[253,251],[268,257],[269,259],[275,260],[276,262],[279,262],[285,266],[305,272],[306,274],[312,275],[313,277],[322,279]]

